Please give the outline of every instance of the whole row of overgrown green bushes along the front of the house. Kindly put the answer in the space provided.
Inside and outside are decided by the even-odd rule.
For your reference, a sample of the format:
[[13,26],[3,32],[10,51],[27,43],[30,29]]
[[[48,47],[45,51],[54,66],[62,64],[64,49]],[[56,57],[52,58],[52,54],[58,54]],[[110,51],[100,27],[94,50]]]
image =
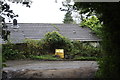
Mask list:
[[48,32],[41,40],[26,39],[24,42],[25,44],[3,44],[3,58],[6,60],[25,58],[59,60],[53,56],[55,49],[64,49],[65,59],[77,60],[78,57],[90,59],[101,54],[100,48],[93,47],[89,43],[71,41],[56,31]]

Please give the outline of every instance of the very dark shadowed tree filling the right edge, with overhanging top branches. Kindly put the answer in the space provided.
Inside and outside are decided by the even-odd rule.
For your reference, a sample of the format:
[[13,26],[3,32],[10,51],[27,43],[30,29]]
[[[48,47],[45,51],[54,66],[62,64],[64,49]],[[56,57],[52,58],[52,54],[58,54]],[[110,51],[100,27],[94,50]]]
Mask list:
[[120,3],[82,3],[75,2],[74,7],[81,14],[96,14],[103,21],[103,58],[99,62],[99,76],[119,78],[120,74]]

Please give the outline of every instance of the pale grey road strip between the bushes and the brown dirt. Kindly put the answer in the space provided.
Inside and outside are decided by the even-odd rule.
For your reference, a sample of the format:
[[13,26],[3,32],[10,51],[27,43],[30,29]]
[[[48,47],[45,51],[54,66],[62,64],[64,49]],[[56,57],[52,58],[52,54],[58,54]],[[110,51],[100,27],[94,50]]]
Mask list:
[[95,61],[8,61],[6,62],[9,67],[5,67],[4,70],[20,70],[20,69],[66,69],[66,68],[81,68],[91,67],[98,68]]

